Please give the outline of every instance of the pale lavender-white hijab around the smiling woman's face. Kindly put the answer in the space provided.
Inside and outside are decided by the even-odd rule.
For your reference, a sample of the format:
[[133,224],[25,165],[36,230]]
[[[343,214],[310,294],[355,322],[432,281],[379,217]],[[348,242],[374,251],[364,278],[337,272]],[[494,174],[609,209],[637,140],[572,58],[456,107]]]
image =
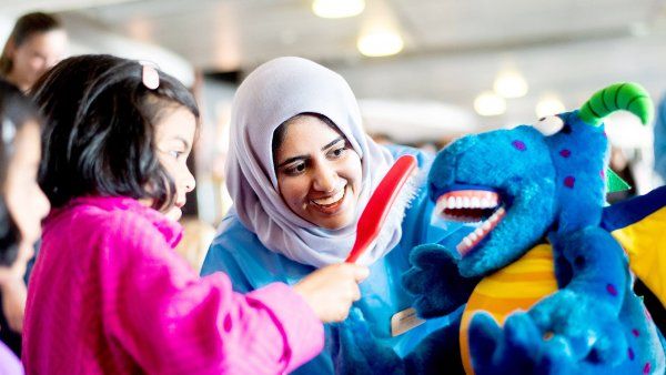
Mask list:
[[[361,158],[356,220],[346,227],[326,230],[303,220],[286,206],[278,190],[273,132],[304,112],[333,121]],[[357,217],[392,163],[389,150],[363,131],[359,104],[346,81],[310,60],[289,57],[269,61],[254,70],[235,94],[226,186],[241,222],[268,249],[293,261],[316,267],[344,261],[355,240]],[[375,262],[400,241],[400,221],[386,223],[382,231],[377,244],[360,263]]]

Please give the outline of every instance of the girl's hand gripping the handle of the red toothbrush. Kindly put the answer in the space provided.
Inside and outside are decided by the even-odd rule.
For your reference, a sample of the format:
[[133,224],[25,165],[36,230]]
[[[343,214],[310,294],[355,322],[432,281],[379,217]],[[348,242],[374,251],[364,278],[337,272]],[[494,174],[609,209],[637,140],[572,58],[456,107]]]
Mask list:
[[324,323],[344,321],[354,301],[361,298],[359,283],[367,277],[365,266],[341,263],[320,268],[294,285]]

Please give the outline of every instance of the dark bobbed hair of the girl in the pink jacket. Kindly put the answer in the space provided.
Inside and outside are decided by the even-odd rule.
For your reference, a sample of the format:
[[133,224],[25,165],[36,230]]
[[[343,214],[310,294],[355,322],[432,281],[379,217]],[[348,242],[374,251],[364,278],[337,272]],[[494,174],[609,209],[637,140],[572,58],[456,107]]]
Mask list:
[[151,199],[173,204],[175,185],[154,145],[164,109],[182,105],[199,120],[188,89],[158,71],[159,87],[142,81],[138,61],[108,54],[69,58],[34,85],[44,116],[39,184],[60,207],[83,195]]

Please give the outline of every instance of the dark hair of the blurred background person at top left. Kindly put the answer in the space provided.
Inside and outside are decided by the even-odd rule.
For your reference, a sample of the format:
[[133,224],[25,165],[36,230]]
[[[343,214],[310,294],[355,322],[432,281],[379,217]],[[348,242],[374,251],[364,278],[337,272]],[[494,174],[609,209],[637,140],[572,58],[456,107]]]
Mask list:
[[10,44],[18,48],[36,33],[57,29],[62,29],[62,23],[51,14],[34,12],[19,18],[4,43],[2,55],[0,55],[0,75],[9,74],[13,68],[13,62],[9,58]]

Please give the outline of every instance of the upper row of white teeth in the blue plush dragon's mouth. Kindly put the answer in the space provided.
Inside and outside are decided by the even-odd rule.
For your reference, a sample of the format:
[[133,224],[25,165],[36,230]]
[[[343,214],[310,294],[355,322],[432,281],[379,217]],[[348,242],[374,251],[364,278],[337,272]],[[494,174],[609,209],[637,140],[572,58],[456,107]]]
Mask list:
[[493,214],[500,205],[500,195],[486,190],[457,190],[437,199],[435,212],[445,220],[480,222]]

